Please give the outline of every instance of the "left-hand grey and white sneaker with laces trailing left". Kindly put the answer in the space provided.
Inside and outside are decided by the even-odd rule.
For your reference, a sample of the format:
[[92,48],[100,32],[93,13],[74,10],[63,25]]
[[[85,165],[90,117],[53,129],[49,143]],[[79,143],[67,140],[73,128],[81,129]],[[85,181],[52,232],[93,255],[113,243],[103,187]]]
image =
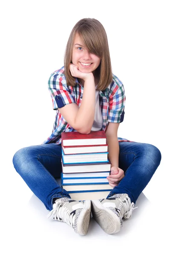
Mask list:
[[91,218],[91,201],[74,201],[71,198],[59,198],[53,204],[48,218],[54,215],[56,221],[66,222],[76,233],[86,235]]

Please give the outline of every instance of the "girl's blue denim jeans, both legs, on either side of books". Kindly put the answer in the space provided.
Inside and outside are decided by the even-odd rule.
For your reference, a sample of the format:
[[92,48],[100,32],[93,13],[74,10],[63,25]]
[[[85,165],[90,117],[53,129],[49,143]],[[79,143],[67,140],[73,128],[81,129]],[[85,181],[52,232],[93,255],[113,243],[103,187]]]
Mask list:
[[[158,148],[145,143],[120,142],[119,146],[119,167],[125,172],[125,177],[108,197],[126,193],[135,203],[158,168],[161,154]],[[70,198],[55,180],[60,178],[62,171],[61,145],[50,143],[21,148],[14,154],[13,164],[46,209],[52,210],[53,198]]]

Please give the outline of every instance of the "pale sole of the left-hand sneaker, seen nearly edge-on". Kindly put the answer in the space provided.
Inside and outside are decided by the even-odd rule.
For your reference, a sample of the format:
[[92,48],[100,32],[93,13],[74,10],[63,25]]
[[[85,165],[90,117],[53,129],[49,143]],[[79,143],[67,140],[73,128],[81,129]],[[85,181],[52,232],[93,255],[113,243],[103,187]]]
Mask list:
[[84,201],[84,208],[80,213],[77,221],[77,233],[80,235],[86,235],[89,229],[89,223],[91,218],[91,201]]

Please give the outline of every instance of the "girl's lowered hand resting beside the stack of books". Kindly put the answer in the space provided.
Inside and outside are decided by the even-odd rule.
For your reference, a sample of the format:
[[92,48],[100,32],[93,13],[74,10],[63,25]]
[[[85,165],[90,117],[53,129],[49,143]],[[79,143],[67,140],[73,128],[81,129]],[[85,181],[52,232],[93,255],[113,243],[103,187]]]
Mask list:
[[113,188],[118,185],[120,180],[122,180],[124,177],[124,171],[120,169],[119,167],[113,166],[111,168],[111,173],[107,177],[107,180],[109,180],[109,185]]

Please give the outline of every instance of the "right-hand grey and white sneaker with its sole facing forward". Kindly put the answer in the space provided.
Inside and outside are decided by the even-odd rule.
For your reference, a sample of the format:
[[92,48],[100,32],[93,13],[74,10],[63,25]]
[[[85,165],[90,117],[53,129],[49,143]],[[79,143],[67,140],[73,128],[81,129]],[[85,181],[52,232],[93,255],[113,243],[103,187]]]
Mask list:
[[122,218],[132,216],[134,203],[127,194],[112,195],[107,199],[92,200],[92,215],[107,234],[115,234],[123,227]]

